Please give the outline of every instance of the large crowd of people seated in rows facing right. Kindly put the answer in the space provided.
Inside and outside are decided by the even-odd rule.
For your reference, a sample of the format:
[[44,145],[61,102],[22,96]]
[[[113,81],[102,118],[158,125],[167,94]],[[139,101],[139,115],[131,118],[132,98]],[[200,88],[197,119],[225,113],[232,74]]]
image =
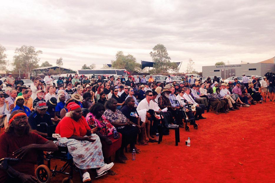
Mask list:
[[[36,180],[33,168],[34,164],[44,164],[43,151],[57,150],[56,144],[45,139],[48,134],[42,123],[57,125],[55,135],[61,139],[57,145],[69,147],[73,141],[75,147],[89,148],[81,156],[74,152],[74,146],[69,148],[82,171],[83,182],[87,182],[91,179],[88,169],[96,169],[99,175],[106,170],[116,174],[110,170],[114,165],[110,156],[115,156],[115,162],[127,163],[125,148],[130,146],[129,152],[135,149],[141,153],[142,146],[137,145],[157,142],[154,135],[161,113],[168,116],[170,123],[183,127],[180,110],[185,110],[188,117],[194,116],[194,120],[205,120],[203,114],[209,108],[219,115],[239,110],[240,106],[262,103],[259,87],[266,88],[266,83],[259,84],[257,78],[248,81],[248,85],[237,79],[234,83],[220,82],[217,77],[213,82],[208,78],[204,83],[194,83],[192,79],[190,84],[184,78],[180,83],[168,80],[164,84],[153,78],[147,83],[145,77],[129,75],[117,80],[110,76],[105,83],[100,76],[89,80],[85,76],[79,79],[75,74],[59,78],[57,88],[52,85],[50,75],[45,78],[46,86],[37,77],[30,89],[17,84],[15,89],[0,91],[0,127],[5,128],[0,136],[0,159],[22,158],[11,173],[15,178],[7,178],[1,170],[0,182]],[[186,104],[192,104],[193,110]],[[83,116],[82,108],[88,110],[87,115]],[[114,129],[118,137],[114,136]],[[26,168],[21,168],[22,163]]]

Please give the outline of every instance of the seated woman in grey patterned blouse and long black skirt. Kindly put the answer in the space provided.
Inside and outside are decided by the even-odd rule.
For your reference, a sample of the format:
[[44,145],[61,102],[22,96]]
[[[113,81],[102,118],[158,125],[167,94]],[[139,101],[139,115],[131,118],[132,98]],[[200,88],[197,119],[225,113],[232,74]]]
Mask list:
[[[125,115],[117,110],[117,100],[110,98],[105,103],[104,116],[111,122],[111,124],[116,127],[117,132],[122,134],[122,144],[120,148],[120,154],[123,154],[123,149],[130,144],[130,152],[135,149],[136,153],[140,153],[140,150],[135,147],[135,142],[138,137],[138,129],[127,120]],[[123,160],[128,160],[125,156]]]

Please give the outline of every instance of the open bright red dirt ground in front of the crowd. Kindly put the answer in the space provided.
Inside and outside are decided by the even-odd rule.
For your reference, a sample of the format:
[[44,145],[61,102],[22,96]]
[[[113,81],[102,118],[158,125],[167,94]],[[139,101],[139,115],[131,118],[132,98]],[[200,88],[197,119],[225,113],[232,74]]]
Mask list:
[[[198,130],[180,129],[178,146],[170,130],[161,144],[138,146],[142,153],[135,161],[115,163],[112,170],[118,175],[95,179],[92,173],[92,182],[275,182],[274,114],[275,102],[228,114],[206,113],[203,116],[207,119],[198,121]],[[188,137],[190,147],[185,145]],[[130,159],[131,153],[126,156]],[[57,174],[52,182],[61,182],[64,177]],[[77,172],[73,181],[81,182]]]

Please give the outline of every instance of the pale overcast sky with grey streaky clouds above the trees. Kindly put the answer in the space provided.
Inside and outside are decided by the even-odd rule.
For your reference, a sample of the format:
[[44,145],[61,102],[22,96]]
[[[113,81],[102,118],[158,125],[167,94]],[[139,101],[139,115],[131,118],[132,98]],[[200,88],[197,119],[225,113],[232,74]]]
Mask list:
[[42,50],[39,64],[97,68],[117,51],[137,61],[163,44],[171,61],[194,68],[218,61],[255,63],[275,56],[275,1],[2,1],[0,44],[12,61],[22,45]]

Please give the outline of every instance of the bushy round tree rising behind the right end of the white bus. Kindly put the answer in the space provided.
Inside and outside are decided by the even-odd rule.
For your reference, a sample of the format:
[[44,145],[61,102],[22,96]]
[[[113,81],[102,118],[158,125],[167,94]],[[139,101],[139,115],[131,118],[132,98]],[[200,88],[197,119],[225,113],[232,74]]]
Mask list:
[[140,64],[137,63],[137,59],[131,54],[126,56],[122,51],[118,51],[115,57],[116,60],[112,61],[112,67],[116,69],[126,69],[130,74],[140,69]]

